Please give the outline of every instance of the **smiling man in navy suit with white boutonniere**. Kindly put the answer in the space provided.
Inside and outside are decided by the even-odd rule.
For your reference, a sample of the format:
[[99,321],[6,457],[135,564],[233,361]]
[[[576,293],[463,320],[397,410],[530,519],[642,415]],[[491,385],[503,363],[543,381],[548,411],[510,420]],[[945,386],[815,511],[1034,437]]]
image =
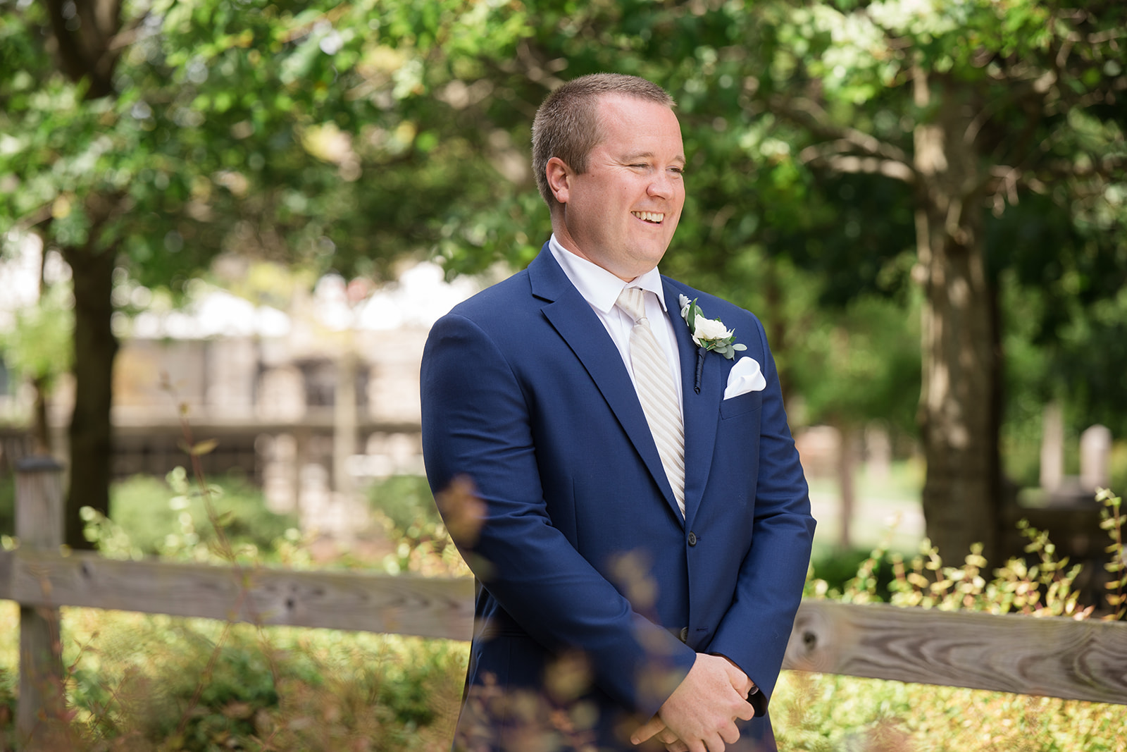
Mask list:
[[685,198],[673,104],[619,74],[552,92],[551,239],[427,340],[427,476],[479,499],[458,750],[774,749],[815,522],[763,326],[657,271]]

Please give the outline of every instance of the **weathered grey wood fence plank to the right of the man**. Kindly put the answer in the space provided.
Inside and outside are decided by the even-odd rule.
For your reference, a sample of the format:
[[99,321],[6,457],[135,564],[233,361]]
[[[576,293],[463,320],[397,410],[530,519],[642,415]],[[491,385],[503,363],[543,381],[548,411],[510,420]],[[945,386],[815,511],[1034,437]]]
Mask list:
[[1127,705],[1127,623],[805,601],[783,667]]

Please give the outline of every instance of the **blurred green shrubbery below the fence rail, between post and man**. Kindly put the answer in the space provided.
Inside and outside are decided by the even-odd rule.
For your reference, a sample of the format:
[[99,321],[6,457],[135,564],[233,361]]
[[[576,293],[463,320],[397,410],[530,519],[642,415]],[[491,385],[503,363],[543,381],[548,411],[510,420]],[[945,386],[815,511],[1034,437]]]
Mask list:
[[[74,749],[449,745],[464,644],[68,609]],[[85,645],[85,649],[74,645]]]

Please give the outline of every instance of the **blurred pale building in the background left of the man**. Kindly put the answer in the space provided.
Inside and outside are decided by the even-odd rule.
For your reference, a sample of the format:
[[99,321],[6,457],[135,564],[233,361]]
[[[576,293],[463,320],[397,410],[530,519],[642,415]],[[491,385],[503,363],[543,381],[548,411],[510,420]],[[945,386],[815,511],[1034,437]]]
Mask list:
[[[423,474],[418,373],[431,325],[478,286],[418,264],[369,293],[328,276],[289,310],[208,290],[179,310],[118,321],[114,475],[162,476],[215,440],[208,475],[241,471],[277,512],[346,534],[367,481]],[[0,462],[28,451],[32,395],[0,365]],[[52,395],[53,450],[65,461],[73,404]]]

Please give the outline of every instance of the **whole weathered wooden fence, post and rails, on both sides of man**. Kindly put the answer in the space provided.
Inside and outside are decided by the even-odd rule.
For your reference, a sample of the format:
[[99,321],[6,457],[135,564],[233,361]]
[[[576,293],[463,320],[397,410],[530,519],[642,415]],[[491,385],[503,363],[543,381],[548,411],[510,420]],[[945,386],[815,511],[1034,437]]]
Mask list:
[[[61,468],[17,472],[20,546],[0,551],[0,600],[20,604],[17,735],[64,698],[59,607],[469,639],[473,582],[61,555]],[[806,601],[784,669],[1127,705],[1127,623]]]

